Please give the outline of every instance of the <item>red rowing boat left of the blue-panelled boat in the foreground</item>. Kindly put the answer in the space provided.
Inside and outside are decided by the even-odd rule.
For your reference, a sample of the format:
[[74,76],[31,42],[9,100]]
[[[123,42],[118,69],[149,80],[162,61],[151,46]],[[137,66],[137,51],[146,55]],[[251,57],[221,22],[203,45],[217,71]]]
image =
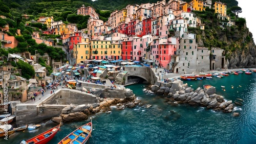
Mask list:
[[30,138],[29,140],[26,140],[26,143],[45,144],[45,143],[49,142],[55,136],[55,134],[59,131],[59,127],[60,127],[60,125],[52,128],[46,132],[43,132],[33,138]]

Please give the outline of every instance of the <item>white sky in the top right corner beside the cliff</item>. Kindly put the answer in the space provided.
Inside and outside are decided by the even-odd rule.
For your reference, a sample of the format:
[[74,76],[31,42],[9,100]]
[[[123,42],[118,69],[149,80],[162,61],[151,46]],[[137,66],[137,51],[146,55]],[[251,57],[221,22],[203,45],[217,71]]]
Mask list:
[[237,0],[238,6],[242,8],[242,13],[239,14],[239,17],[246,18],[246,25],[249,28],[249,31],[253,35],[254,42],[256,42],[256,28],[253,26],[254,22],[254,12],[253,10],[256,8],[255,0]]

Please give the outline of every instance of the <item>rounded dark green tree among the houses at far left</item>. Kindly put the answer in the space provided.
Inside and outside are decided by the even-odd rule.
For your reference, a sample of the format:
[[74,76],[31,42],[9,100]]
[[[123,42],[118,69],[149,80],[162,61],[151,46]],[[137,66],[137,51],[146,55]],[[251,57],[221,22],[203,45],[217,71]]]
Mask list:
[[35,76],[35,70],[32,65],[22,60],[19,60],[18,62],[16,62],[16,64],[19,69],[22,69],[22,77],[26,79],[31,79]]

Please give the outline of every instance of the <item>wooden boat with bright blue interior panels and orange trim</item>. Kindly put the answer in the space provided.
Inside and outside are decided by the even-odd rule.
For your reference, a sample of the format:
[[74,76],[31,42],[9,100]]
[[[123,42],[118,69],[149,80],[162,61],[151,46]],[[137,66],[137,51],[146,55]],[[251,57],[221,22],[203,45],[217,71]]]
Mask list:
[[80,144],[80,143],[86,143],[89,137],[91,136],[93,130],[93,124],[92,122],[87,123],[69,135],[67,135],[65,138],[63,138],[58,144],[67,144],[67,143],[74,143],[74,144]]

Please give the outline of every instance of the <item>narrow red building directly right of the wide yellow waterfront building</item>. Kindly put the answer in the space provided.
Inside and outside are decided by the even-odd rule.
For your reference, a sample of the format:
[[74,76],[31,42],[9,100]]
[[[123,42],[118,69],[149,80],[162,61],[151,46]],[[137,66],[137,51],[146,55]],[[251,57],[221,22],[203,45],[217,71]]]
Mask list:
[[133,59],[133,40],[122,42],[122,59]]

